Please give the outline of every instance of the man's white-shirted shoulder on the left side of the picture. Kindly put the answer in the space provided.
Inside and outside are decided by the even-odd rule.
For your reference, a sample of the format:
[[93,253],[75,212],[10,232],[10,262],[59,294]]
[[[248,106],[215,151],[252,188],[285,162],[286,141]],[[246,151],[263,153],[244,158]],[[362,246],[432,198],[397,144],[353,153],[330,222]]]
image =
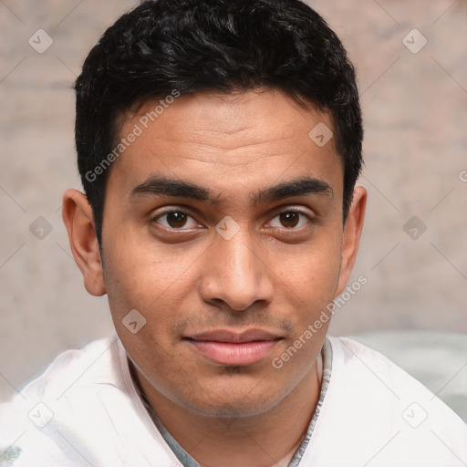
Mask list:
[[0,404],[0,420],[0,465],[173,463],[117,338],[59,355],[14,400]]

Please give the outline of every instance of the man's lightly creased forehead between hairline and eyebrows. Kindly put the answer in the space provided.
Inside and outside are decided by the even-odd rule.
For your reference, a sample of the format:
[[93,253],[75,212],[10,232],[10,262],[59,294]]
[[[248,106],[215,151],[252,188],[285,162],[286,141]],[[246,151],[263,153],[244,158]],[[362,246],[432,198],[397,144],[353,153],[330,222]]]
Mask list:
[[128,193],[135,183],[164,174],[223,191],[232,185],[254,190],[262,181],[306,174],[338,194],[342,163],[332,138],[317,144],[316,128],[327,130],[328,138],[329,115],[303,109],[278,90],[150,100],[124,116],[119,140],[127,142],[109,182]]

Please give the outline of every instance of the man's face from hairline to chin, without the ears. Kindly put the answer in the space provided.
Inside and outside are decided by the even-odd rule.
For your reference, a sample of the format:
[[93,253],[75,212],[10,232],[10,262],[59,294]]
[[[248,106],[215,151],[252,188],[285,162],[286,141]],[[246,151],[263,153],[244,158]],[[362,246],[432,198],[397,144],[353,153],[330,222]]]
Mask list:
[[125,117],[120,137],[141,132],[106,188],[103,278],[117,333],[140,379],[173,403],[262,413],[314,375],[328,323],[278,359],[353,261],[342,161],[332,139],[308,136],[331,120],[279,91],[199,93],[145,128],[156,104]]

